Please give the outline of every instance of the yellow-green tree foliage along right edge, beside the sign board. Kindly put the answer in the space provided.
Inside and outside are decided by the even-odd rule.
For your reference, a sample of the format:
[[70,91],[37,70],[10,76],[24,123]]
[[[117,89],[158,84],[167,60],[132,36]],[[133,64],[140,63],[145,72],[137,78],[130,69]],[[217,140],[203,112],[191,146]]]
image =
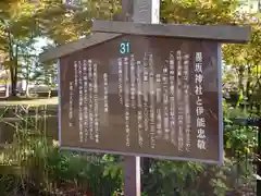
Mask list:
[[[254,109],[256,113],[260,113],[260,96],[261,96],[261,23],[252,15],[246,15],[243,24],[251,26],[251,39],[248,45],[224,45],[223,59],[227,65],[236,71],[236,75],[227,78],[228,81],[237,81],[234,89],[240,97],[246,109]],[[235,94],[234,93],[234,94]],[[239,96],[240,95],[240,96]],[[247,102],[246,102],[247,100]]]

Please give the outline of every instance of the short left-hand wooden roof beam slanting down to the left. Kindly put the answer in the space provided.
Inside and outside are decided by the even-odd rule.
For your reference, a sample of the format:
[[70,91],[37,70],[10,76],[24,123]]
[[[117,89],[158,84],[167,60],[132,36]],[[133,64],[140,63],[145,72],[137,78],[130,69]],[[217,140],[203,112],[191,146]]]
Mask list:
[[121,34],[95,33],[86,38],[48,49],[46,52],[39,54],[39,61],[47,62],[55,60],[87,47],[91,47],[113,39],[117,36],[121,36]]

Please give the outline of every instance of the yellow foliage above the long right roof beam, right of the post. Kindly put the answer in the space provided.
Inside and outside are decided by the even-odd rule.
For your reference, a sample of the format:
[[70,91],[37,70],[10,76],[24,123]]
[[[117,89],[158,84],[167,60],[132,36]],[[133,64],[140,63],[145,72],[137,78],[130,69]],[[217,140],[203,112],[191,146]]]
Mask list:
[[164,23],[234,24],[236,0],[163,0],[161,20]]

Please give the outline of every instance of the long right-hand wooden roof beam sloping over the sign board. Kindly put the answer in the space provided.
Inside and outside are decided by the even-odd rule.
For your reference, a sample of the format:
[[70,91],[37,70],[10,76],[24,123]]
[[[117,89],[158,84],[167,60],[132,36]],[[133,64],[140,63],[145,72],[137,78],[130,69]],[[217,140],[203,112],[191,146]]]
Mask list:
[[245,44],[250,39],[250,26],[210,26],[186,24],[147,24],[95,20],[92,32],[211,39],[220,42]]

